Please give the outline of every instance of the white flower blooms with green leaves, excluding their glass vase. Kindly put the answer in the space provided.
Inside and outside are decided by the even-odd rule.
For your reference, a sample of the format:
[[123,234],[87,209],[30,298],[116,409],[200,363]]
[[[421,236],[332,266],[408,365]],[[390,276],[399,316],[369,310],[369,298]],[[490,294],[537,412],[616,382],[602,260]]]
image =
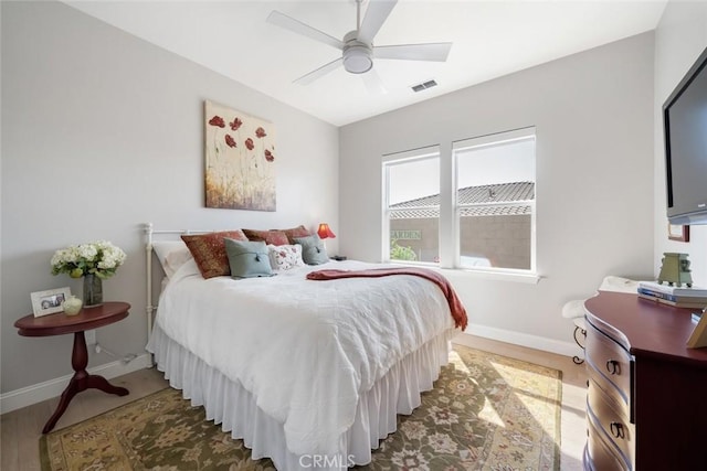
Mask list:
[[110,278],[125,261],[125,251],[107,240],[72,245],[54,253],[52,275],[68,274],[72,278],[95,275]]

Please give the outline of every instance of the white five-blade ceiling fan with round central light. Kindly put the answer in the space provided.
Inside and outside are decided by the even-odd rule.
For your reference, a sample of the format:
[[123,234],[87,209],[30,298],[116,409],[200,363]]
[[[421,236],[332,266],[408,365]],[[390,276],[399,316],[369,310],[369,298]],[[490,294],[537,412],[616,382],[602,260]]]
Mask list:
[[303,75],[295,81],[296,84],[310,84],[329,72],[344,66],[351,74],[363,74],[362,76],[369,88],[382,92],[382,84],[372,69],[374,58],[446,61],[452,43],[373,45],[376,34],[386,22],[386,19],[388,19],[398,0],[368,0],[366,15],[361,21],[362,1],[356,0],[356,30],[346,33],[342,40],[338,40],[277,10],[273,10],[270,13],[267,22],[341,51],[341,57]]

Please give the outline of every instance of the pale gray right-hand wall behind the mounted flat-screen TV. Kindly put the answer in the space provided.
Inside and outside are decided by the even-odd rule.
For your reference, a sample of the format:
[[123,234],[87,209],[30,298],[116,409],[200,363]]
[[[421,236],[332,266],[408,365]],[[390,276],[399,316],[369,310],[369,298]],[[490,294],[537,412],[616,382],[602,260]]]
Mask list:
[[667,238],[663,104],[707,47],[707,2],[671,1],[655,32],[655,275],[664,251],[689,254],[693,281],[707,286],[707,226],[690,226],[689,243]]

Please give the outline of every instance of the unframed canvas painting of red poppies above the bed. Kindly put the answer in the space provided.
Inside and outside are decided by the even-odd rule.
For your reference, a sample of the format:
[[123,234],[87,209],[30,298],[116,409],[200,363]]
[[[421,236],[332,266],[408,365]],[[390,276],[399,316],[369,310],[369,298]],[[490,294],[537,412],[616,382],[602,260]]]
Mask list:
[[275,127],[204,103],[207,207],[275,211]]

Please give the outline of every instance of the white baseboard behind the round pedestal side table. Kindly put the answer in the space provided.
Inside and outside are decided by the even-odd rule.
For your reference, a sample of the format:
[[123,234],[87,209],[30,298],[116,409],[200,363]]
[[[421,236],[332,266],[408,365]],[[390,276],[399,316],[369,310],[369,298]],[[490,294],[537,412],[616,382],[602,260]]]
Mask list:
[[[87,368],[86,371],[91,374],[101,375],[106,379],[112,379],[141,368],[149,368],[150,366],[151,355],[145,353],[128,364],[125,364],[122,361],[115,361]],[[61,396],[72,376],[73,373],[0,395],[0,414],[21,409],[22,407]]]

